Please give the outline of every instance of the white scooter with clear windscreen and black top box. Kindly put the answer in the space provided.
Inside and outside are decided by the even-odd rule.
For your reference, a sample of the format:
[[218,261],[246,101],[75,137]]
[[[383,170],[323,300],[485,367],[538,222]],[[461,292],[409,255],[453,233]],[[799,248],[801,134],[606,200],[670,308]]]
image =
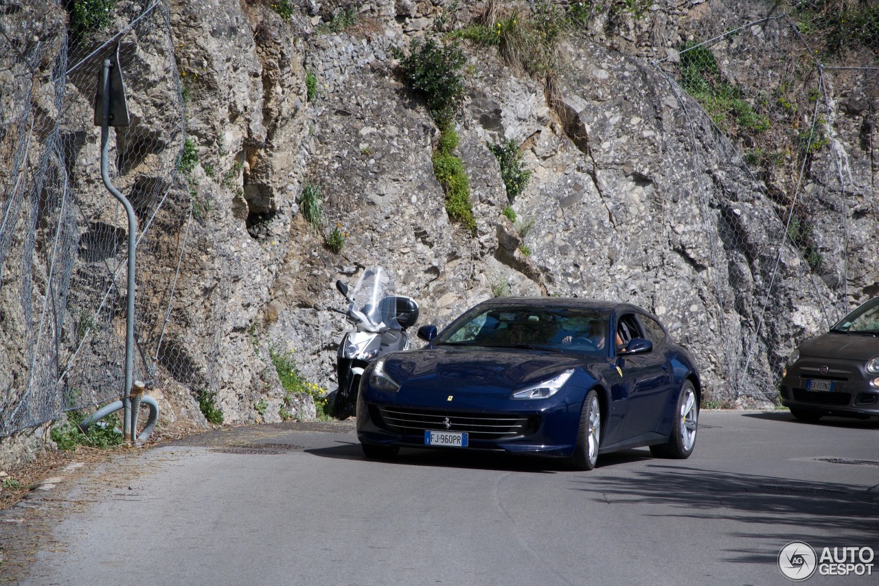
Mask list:
[[333,413],[345,419],[357,408],[360,376],[367,365],[388,352],[409,349],[406,329],[418,321],[418,303],[395,295],[393,278],[381,266],[363,271],[350,297],[341,280],[336,281],[336,288],[345,295],[348,309],[332,309],[354,326],[338,344],[336,363],[338,391]]

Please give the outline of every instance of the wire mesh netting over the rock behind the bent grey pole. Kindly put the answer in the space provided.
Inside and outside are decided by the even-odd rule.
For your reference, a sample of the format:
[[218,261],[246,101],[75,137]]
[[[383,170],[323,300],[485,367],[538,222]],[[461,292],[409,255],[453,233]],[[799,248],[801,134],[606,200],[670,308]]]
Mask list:
[[[98,72],[118,59],[131,125],[109,175],[137,219],[134,379],[192,380],[163,338],[193,220],[168,6],[51,2],[4,17],[0,52],[0,436],[118,398],[125,381],[127,215],[101,179]],[[136,97],[132,99],[132,97]],[[175,371],[176,372],[173,372]]]

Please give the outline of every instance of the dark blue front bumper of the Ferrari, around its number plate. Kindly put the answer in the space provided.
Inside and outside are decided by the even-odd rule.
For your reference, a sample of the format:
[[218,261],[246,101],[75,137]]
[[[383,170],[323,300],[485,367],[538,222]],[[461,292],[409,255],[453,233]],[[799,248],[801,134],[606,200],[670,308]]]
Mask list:
[[574,452],[585,397],[570,391],[542,400],[465,394],[449,402],[446,393],[361,391],[357,437],[362,444],[443,450],[449,448],[425,445],[425,430],[461,431],[469,434],[469,445],[452,449],[560,458]]

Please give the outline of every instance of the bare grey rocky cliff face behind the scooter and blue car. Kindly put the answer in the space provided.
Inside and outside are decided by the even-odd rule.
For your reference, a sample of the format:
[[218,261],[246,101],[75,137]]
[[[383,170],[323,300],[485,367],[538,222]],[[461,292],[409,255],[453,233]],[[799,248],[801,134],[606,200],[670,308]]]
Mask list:
[[[795,342],[879,291],[876,76],[839,73],[827,86],[832,135],[797,191],[816,216],[818,264],[785,238],[778,192],[799,188],[752,173],[741,141],[672,83],[681,42],[772,16],[774,4],[605,7],[563,44],[550,90],[465,42],[454,154],[476,233],[449,221],[432,170],[439,130],[393,48],[484,8],[458,4],[274,5],[287,14],[258,0],[171,0],[200,229],[186,232],[160,352],[163,417],[203,422],[193,393],[208,388],[227,423],[313,416],[309,396],[291,403],[271,352],[292,351],[306,379],[335,389],[345,324],[328,310],[342,304],[333,284],[371,264],[438,326],[502,290],[636,303],[694,351],[709,398],[739,404],[772,402]],[[772,20],[730,34],[713,47],[718,67],[760,88],[792,30]],[[489,147],[506,140],[531,172],[512,203],[527,231],[502,214]],[[306,186],[323,195],[317,229],[301,213]],[[325,244],[333,227],[347,235],[338,253]]]

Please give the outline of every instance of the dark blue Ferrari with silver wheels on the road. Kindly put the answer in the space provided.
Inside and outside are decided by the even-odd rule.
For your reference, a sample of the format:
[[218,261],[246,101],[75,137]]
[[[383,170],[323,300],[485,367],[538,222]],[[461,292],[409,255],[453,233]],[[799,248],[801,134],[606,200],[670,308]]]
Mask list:
[[429,344],[395,352],[360,383],[357,435],[371,458],[401,446],[567,459],[649,445],[687,458],[701,384],[694,358],[654,315],[624,303],[498,298]]

